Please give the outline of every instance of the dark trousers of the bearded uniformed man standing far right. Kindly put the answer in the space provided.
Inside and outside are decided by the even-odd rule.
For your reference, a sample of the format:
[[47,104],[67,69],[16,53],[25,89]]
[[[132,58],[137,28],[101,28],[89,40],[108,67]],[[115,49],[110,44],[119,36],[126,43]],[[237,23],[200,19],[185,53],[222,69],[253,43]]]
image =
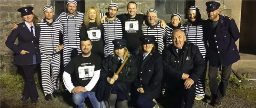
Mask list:
[[231,74],[231,65],[222,67],[220,85],[217,81],[218,67],[209,66],[210,91],[214,98],[223,99]]

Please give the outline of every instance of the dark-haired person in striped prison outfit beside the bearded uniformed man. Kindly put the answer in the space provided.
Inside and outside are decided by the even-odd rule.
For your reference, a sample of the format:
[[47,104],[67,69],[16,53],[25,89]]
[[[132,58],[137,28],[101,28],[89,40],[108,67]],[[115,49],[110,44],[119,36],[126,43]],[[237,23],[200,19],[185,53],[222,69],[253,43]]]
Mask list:
[[197,6],[191,6],[188,9],[188,21],[183,25],[185,27],[185,35],[188,43],[193,43],[198,46],[200,53],[205,60],[205,69],[201,76],[198,78],[195,86],[195,99],[201,100],[205,95],[205,77],[208,58],[206,51],[208,48],[207,37],[203,35],[203,21]]

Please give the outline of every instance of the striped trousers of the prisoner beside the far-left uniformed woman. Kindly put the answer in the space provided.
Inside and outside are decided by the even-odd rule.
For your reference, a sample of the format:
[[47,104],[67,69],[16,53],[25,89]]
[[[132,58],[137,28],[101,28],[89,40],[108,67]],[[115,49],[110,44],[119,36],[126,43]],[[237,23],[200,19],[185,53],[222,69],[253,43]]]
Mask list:
[[52,94],[59,90],[61,54],[41,54],[41,61],[43,92],[45,95]]

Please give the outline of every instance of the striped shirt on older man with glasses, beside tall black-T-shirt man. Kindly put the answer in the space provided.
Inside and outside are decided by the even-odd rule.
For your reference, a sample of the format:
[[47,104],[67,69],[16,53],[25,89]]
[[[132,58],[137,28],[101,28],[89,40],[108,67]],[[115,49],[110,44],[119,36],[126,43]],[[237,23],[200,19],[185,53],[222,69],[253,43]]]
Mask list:
[[141,30],[143,35],[153,35],[156,37],[156,49],[158,50],[158,53],[162,54],[163,48],[165,47],[165,45],[163,44],[163,37],[166,35],[166,30],[165,28],[161,27],[161,22],[158,21],[156,23],[156,26],[142,25]]

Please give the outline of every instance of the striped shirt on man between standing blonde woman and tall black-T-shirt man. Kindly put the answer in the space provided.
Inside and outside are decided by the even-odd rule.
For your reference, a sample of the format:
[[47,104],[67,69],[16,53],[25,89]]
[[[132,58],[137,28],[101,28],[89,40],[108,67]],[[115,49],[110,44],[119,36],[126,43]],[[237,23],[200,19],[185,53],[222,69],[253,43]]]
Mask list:
[[112,41],[114,39],[123,37],[121,20],[119,20],[119,18],[116,18],[113,23],[105,20],[103,28],[105,41],[104,56],[106,57],[113,54],[114,44],[112,43]]

